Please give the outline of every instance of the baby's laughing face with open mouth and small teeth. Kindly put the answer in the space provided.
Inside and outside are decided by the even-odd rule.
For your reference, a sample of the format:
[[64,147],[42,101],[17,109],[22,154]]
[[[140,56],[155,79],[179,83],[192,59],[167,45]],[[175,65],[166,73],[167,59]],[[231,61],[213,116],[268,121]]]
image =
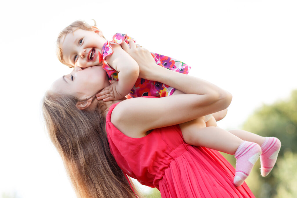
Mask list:
[[77,29],[67,34],[61,45],[64,61],[71,66],[86,68],[101,65],[99,54],[106,42],[102,32],[94,30]]

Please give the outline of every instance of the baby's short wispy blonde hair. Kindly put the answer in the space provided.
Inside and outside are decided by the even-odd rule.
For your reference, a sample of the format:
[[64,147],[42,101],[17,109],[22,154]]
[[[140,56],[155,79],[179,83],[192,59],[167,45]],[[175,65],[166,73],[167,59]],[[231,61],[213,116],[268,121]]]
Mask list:
[[[94,21],[94,26],[96,26],[96,21]],[[76,20],[73,23],[71,23],[69,26],[67,26],[66,28],[64,28],[60,34],[58,35],[58,39],[57,39],[57,45],[56,45],[56,53],[57,53],[57,57],[59,59],[59,61],[61,63],[63,63],[64,65],[69,66],[69,68],[73,68],[73,65],[69,65],[65,62],[65,60],[63,59],[63,51],[62,51],[62,43],[64,41],[64,38],[66,37],[67,34],[69,34],[70,32],[73,32],[77,29],[83,29],[83,30],[93,30],[92,29],[93,26],[90,26],[88,23],[86,23],[83,20]]]

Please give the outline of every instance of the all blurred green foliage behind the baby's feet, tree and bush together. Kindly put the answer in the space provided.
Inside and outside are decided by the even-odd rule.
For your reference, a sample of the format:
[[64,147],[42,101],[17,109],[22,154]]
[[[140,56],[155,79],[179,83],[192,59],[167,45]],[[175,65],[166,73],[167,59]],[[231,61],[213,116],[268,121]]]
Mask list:
[[[255,197],[297,197],[297,90],[290,98],[263,105],[251,115],[243,129],[282,142],[277,163],[265,178],[260,176],[260,160],[247,179]],[[255,185],[256,183],[256,185]]]

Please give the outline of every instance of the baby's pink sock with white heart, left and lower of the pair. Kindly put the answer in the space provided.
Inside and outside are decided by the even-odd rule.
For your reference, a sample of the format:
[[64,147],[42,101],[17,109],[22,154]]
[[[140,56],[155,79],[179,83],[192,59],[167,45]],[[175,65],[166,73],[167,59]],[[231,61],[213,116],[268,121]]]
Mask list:
[[261,154],[260,145],[254,142],[244,141],[235,152],[236,172],[233,183],[240,186],[249,176],[254,164]]

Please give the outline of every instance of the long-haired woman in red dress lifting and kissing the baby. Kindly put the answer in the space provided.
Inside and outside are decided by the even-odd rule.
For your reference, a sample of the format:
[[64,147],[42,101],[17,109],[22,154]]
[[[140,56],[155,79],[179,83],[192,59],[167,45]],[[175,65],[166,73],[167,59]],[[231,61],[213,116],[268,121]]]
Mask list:
[[130,47],[123,46],[137,61],[139,77],[187,94],[97,101],[95,94],[110,85],[99,66],[76,68],[57,80],[45,95],[43,113],[78,196],[135,197],[127,174],[157,187],[162,197],[253,197],[245,183],[233,185],[228,161],[217,151],[186,144],[176,125],[226,109],[232,96],[156,65],[142,47]]

